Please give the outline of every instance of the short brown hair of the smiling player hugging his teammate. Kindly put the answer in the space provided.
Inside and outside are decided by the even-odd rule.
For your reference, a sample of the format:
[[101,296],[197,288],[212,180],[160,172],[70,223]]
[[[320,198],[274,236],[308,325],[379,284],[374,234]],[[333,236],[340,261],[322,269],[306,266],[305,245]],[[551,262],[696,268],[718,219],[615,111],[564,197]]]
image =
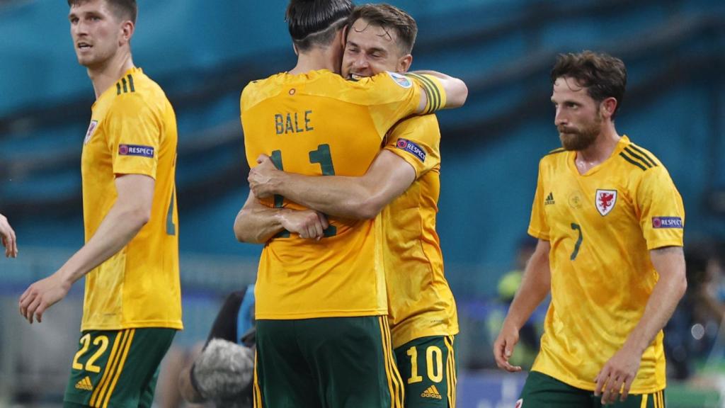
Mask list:
[[363,4],[355,8],[347,19],[347,25],[352,27],[361,18],[386,31],[393,30],[397,35],[397,45],[400,51],[403,54],[413,52],[415,37],[418,36],[418,24],[407,12],[390,4]]

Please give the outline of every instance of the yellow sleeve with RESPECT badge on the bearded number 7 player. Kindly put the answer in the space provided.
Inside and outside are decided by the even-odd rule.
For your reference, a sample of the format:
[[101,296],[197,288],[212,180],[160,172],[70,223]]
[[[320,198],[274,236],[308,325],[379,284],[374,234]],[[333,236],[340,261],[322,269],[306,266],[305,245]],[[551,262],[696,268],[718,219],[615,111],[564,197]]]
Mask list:
[[682,246],[684,205],[663,166],[651,168],[642,175],[637,188],[637,206],[647,249]]

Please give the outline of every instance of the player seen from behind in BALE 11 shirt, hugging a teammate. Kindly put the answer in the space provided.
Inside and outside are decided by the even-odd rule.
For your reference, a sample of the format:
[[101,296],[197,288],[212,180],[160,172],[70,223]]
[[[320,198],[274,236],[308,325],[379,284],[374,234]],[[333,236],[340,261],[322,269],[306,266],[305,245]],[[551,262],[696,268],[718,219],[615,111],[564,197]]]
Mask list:
[[[290,2],[297,66],[250,83],[241,96],[250,166],[266,154],[278,167],[301,174],[360,176],[397,121],[463,104],[465,84],[450,77],[383,73],[345,81],[337,73],[351,12],[347,0]],[[273,222],[256,221],[273,207],[285,212]],[[255,406],[401,407],[380,224],[328,224],[305,210],[303,216],[316,221],[303,232],[287,218],[295,209],[303,208],[283,197],[259,203],[250,193],[234,226],[239,240],[269,240],[255,293]],[[287,231],[274,237],[280,227]],[[307,234],[321,239],[306,240]]]

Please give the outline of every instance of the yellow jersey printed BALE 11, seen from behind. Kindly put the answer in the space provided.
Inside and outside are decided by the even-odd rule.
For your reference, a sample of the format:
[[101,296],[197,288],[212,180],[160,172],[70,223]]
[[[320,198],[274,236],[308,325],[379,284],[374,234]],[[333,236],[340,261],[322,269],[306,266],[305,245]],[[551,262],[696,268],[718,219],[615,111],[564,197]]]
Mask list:
[[[389,128],[415,112],[421,91],[428,110],[443,105],[436,80],[395,73],[345,81],[316,70],[249,83],[241,94],[249,166],[264,153],[292,173],[362,176]],[[283,197],[262,203],[302,208]],[[257,319],[387,314],[380,222],[330,221],[322,240],[283,233],[265,245],[255,287]]]

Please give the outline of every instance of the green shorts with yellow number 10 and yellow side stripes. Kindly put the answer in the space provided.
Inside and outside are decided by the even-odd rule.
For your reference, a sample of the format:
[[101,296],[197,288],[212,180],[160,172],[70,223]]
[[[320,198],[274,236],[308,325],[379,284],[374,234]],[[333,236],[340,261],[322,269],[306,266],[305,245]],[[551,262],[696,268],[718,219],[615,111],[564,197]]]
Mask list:
[[417,338],[395,349],[405,383],[405,408],[455,407],[455,336]]

